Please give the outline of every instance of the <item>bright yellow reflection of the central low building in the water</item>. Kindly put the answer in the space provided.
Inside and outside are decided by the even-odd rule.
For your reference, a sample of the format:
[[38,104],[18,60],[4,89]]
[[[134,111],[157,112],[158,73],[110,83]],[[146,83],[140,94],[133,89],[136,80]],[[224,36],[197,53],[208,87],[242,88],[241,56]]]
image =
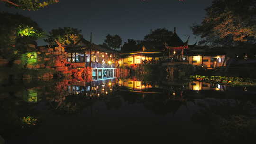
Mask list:
[[[152,88],[152,85],[150,84],[143,84],[142,81],[136,81],[131,79],[126,79],[126,80],[119,79],[119,85],[127,87],[129,89],[133,89],[133,90],[143,90],[143,89]],[[155,86],[155,87],[158,87],[158,86]]]

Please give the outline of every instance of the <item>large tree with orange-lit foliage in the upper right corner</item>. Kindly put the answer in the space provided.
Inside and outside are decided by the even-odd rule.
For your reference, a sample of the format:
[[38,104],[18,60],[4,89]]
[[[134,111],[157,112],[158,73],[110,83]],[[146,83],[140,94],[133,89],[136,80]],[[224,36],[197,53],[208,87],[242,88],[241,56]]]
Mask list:
[[199,44],[211,46],[237,46],[255,43],[256,0],[213,0],[205,9],[201,25],[191,28],[201,36]]

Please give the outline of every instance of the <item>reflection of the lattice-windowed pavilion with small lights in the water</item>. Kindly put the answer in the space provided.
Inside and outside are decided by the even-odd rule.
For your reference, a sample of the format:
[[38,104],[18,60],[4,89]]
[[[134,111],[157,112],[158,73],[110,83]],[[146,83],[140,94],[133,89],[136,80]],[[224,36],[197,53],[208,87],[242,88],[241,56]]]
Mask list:
[[75,82],[68,86],[69,95],[101,96],[110,94],[118,85],[117,79],[97,80],[90,83]]

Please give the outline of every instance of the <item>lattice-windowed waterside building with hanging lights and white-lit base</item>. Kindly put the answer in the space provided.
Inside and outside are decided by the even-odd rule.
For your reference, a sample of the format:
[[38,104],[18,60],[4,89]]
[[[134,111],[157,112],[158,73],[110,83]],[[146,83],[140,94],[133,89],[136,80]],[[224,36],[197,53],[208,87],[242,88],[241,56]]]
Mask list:
[[116,77],[118,51],[95,45],[84,38],[73,46],[62,46],[68,53],[67,61],[76,65],[76,68],[92,68],[94,80]]

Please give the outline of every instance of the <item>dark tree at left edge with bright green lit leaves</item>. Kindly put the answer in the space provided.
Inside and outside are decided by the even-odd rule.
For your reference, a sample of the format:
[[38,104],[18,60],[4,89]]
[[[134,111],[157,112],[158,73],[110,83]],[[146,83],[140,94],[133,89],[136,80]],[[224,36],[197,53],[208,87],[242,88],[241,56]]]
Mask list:
[[0,55],[12,60],[27,52],[29,45],[44,36],[43,30],[29,17],[0,12]]

